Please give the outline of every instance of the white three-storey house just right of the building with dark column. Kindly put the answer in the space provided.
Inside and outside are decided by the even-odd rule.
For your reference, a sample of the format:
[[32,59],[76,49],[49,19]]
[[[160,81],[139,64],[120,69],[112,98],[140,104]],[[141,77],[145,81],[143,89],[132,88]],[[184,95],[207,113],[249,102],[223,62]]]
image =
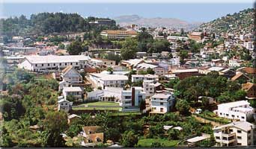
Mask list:
[[150,114],[164,114],[171,111],[174,106],[174,95],[155,94],[150,98],[151,112]]

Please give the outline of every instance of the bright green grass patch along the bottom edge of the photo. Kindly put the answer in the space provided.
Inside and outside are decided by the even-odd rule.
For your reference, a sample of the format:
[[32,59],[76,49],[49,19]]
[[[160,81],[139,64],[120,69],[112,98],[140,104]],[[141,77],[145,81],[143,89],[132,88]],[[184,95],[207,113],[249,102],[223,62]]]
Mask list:
[[179,140],[168,140],[168,139],[139,139],[138,146],[148,148],[153,142],[159,142],[163,147],[175,147]]

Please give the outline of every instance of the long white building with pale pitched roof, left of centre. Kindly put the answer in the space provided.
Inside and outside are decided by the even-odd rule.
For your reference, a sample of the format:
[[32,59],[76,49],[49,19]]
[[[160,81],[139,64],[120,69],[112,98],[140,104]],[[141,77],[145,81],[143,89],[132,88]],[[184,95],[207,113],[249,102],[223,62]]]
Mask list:
[[19,64],[19,68],[27,69],[31,72],[55,72],[67,66],[73,66],[75,69],[84,69],[90,60],[90,57],[83,55],[27,56]]

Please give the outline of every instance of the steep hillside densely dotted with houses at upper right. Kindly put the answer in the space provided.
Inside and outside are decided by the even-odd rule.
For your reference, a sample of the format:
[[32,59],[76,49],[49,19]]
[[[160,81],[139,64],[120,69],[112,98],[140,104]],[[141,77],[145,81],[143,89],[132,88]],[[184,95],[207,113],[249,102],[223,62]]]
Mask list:
[[253,9],[242,10],[239,13],[228,14],[211,22],[202,24],[198,30],[210,31],[216,34],[226,33],[252,33]]

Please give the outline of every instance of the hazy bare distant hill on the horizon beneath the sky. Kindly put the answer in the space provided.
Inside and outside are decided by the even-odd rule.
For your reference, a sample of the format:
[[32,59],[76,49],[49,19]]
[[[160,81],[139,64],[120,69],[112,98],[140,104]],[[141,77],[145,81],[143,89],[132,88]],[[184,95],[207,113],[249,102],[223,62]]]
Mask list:
[[138,15],[130,15],[130,16],[118,16],[113,18],[118,25],[127,26],[131,24],[137,24],[144,27],[169,27],[169,28],[198,28],[201,23],[189,23],[180,19],[174,18],[143,18]]

